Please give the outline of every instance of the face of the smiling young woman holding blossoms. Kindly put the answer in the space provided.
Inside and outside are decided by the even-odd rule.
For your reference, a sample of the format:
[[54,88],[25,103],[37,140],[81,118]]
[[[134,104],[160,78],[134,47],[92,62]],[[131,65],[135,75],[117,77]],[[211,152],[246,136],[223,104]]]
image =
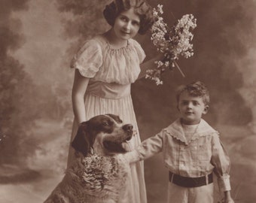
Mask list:
[[114,21],[114,33],[117,38],[128,40],[137,35],[139,31],[140,19],[134,13],[134,9],[130,8],[128,11],[120,13]]

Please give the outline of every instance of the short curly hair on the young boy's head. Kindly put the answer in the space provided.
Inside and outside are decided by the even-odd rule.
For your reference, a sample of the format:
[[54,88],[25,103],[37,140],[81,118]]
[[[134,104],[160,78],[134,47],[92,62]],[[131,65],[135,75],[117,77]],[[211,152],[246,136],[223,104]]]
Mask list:
[[187,85],[179,86],[176,91],[177,102],[179,100],[181,93],[184,91],[188,92],[188,94],[191,96],[202,97],[204,104],[209,105],[209,103],[210,103],[209,90],[204,83],[202,83],[200,81],[195,81],[195,82],[189,83]]

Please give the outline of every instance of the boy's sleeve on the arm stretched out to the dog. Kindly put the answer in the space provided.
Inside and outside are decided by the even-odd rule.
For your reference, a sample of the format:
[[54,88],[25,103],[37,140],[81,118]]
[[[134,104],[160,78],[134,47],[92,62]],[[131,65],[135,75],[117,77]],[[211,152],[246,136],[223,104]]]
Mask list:
[[133,163],[148,159],[163,150],[163,131],[154,137],[142,141],[135,150],[125,153],[126,161]]

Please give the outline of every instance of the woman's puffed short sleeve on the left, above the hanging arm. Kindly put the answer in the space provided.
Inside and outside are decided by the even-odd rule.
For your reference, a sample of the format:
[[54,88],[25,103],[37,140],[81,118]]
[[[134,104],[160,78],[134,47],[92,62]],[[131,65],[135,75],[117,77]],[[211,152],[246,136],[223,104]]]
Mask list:
[[102,66],[102,48],[98,41],[86,41],[83,47],[74,56],[71,68],[77,68],[84,77],[94,77]]

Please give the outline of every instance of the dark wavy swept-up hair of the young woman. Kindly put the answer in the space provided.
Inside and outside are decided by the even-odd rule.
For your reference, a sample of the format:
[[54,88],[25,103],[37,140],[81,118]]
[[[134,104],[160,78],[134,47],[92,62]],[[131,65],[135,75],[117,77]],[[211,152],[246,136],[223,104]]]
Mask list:
[[123,11],[134,8],[134,12],[139,15],[139,34],[143,35],[154,23],[152,8],[145,0],[114,0],[105,7],[103,15],[108,24],[114,26],[116,17]]

